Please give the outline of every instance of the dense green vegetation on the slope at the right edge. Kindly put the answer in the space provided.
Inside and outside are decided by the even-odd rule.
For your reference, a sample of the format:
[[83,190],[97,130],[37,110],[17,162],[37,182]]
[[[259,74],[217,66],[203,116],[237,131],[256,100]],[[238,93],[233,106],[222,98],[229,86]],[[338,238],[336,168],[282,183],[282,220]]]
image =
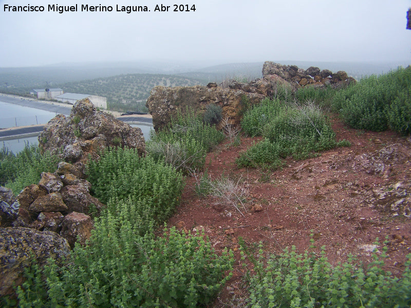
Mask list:
[[343,89],[300,89],[296,98],[329,107],[353,128],[373,131],[389,128],[407,135],[411,132],[410,93],[411,68],[398,68],[365,77]]

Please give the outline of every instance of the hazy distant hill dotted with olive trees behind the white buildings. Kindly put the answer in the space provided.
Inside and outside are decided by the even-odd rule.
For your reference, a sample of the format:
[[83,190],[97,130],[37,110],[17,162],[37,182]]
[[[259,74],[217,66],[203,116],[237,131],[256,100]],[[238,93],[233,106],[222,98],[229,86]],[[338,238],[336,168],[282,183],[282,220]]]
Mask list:
[[[107,98],[111,110],[146,111],[145,100],[155,86],[177,87],[204,84],[200,80],[177,75],[126,74],[60,84],[65,92],[100,95]],[[139,102],[140,101],[140,102]],[[142,101],[142,102],[141,102]]]

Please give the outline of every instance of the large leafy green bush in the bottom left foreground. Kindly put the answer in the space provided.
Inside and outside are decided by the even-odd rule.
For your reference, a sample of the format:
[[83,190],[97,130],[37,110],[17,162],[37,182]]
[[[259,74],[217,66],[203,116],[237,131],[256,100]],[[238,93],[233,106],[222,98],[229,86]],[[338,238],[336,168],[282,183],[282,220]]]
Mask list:
[[18,288],[20,307],[196,307],[230,279],[232,253],[216,255],[203,234],[139,236],[135,203],[116,209],[96,220],[88,245],[76,245],[65,266],[50,261],[41,273],[34,265]]

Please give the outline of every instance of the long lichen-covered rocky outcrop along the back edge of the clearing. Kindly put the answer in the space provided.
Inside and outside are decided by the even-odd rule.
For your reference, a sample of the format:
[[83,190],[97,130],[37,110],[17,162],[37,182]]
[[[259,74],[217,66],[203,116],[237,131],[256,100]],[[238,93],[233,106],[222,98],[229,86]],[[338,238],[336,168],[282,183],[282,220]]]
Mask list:
[[[230,124],[239,124],[241,111],[245,106],[259,103],[265,97],[275,97],[279,84],[286,85],[290,91],[305,87],[323,87],[326,84],[342,86],[354,82],[344,71],[332,73],[309,67],[307,70],[296,65],[281,65],[265,62],[263,78],[242,84],[233,81],[228,88],[209,83],[207,86],[163,87],[157,86],[151,91],[146,106],[153,116],[154,129],[167,127],[178,113],[185,114],[187,108],[195,113],[205,112],[207,105],[216,104],[222,108],[222,117],[230,118]],[[219,128],[217,124],[217,128]]]

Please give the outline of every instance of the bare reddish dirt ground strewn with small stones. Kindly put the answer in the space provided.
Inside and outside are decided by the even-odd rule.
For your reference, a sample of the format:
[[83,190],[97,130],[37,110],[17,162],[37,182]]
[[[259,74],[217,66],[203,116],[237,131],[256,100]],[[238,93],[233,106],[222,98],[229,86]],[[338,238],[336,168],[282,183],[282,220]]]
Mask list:
[[[204,229],[216,251],[225,247],[236,257],[234,276],[215,307],[228,304],[238,289],[244,270],[239,266],[238,238],[250,247],[259,242],[267,253],[278,254],[295,245],[303,252],[313,234],[320,251],[336,265],[349,254],[371,261],[373,243],[388,239],[387,270],[396,275],[411,253],[411,138],[391,131],[370,132],[345,127],[333,119],[337,140],[351,147],[334,148],[320,157],[287,160],[281,170],[240,168],[235,159],[261,138],[241,138],[239,146],[222,144],[209,153],[206,168],[215,179],[222,174],[241,178],[249,191],[242,216],[230,204],[194,191],[188,177],[182,203],[169,226]],[[380,247],[381,248],[381,244]]]

